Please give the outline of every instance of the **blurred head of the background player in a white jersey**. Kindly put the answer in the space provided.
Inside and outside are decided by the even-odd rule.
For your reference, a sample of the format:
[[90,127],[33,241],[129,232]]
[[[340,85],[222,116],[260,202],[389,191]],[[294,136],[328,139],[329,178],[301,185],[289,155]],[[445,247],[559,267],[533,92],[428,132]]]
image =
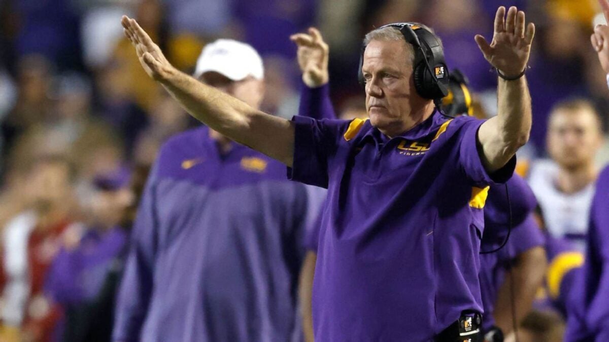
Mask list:
[[552,159],[565,169],[577,169],[593,162],[602,144],[599,125],[589,110],[554,111],[547,133],[547,148]]

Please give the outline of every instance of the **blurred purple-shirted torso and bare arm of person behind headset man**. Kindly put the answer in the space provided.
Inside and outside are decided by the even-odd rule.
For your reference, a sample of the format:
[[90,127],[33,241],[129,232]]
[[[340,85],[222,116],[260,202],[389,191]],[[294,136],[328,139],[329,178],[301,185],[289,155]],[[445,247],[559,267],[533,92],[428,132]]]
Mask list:
[[[514,175],[507,182],[507,190],[491,186],[488,196],[481,246],[485,253],[480,256],[479,278],[486,338],[497,342],[502,341],[499,335],[508,340],[513,326],[518,326],[530,312],[543,284],[547,262],[544,236],[533,217],[535,197],[526,181]],[[489,251],[495,252],[486,253]]]

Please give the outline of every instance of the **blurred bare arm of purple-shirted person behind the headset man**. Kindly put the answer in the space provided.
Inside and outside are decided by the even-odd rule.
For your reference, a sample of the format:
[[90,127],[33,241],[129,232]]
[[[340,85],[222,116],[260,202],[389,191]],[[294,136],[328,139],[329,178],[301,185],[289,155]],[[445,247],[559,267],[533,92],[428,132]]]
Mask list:
[[[546,267],[546,251],[543,246],[530,248],[513,260],[512,268],[508,270],[512,274],[506,274],[505,281],[499,288],[494,312],[495,325],[506,337],[513,332],[512,291],[518,294],[514,296],[513,301],[516,307],[516,322],[520,323],[532,308],[537,290],[543,283]],[[510,288],[512,284],[513,290]]]

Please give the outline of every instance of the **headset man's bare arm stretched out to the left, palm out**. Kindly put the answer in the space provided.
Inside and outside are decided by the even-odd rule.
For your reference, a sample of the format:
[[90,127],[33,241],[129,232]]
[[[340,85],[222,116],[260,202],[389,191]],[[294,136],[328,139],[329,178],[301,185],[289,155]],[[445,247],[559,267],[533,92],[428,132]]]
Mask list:
[[160,82],[188,113],[228,138],[292,166],[291,122],[262,113],[178,71],[135,19],[123,16],[121,23],[146,73]]

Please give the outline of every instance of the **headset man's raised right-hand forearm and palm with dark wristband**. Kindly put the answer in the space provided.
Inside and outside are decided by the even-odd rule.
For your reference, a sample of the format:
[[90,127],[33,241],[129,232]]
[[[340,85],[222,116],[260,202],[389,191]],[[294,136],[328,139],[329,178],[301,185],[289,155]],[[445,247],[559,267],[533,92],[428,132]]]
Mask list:
[[525,30],[524,12],[499,7],[495,17],[493,41],[488,44],[481,35],[476,43],[489,63],[501,72],[497,86],[498,114],[488,119],[478,130],[479,153],[487,172],[493,173],[515,155],[529,140],[532,124],[531,99],[524,69],[529,60],[535,26]]

